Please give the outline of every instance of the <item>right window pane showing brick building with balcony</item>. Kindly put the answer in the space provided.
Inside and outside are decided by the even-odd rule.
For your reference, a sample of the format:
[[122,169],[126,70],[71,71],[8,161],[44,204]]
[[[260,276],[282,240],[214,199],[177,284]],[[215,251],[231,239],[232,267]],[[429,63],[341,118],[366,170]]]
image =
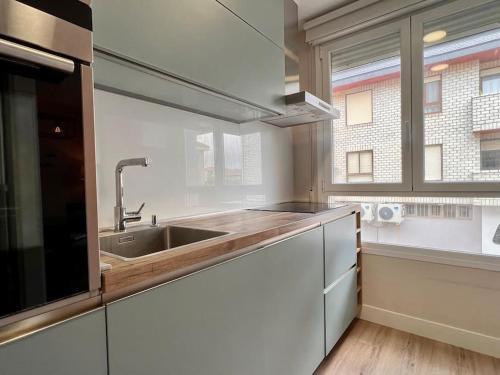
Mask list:
[[[500,4],[493,2],[424,24],[424,144],[442,144],[442,176],[437,162],[427,160],[437,156],[426,149],[428,182],[500,181],[497,152],[481,146],[484,134],[500,138],[499,82],[487,74],[500,68],[499,19]],[[435,76],[440,111],[429,104],[438,92],[429,82]]]

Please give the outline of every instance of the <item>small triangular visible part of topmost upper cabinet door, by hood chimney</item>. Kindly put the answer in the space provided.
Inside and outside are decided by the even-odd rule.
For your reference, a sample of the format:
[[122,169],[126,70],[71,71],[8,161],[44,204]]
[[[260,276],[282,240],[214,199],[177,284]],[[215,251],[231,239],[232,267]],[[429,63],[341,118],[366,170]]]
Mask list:
[[283,47],[285,14],[283,0],[217,0],[249,25]]

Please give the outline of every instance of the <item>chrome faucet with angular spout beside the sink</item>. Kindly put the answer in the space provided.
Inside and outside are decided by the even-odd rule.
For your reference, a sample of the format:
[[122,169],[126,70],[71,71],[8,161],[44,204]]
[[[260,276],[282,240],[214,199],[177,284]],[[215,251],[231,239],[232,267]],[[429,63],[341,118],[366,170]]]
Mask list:
[[115,169],[115,183],[116,183],[116,206],[115,206],[115,232],[125,230],[126,223],[141,220],[141,211],[145,203],[137,211],[127,212],[123,207],[123,168],[131,166],[147,167],[151,164],[148,158],[135,158],[120,160]]

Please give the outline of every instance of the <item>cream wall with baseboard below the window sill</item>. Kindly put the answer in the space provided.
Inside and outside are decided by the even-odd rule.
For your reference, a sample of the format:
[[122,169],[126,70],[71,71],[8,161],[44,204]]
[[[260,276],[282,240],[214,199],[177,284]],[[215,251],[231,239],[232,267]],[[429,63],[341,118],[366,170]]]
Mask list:
[[363,254],[361,317],[500,357],[500,272]]

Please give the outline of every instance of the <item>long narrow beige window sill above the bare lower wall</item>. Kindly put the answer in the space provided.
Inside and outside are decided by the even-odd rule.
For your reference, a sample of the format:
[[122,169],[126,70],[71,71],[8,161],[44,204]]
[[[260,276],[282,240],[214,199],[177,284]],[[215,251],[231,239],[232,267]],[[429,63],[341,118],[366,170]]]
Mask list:
[[362,253],[500,272],[500,256],[363,242]]

